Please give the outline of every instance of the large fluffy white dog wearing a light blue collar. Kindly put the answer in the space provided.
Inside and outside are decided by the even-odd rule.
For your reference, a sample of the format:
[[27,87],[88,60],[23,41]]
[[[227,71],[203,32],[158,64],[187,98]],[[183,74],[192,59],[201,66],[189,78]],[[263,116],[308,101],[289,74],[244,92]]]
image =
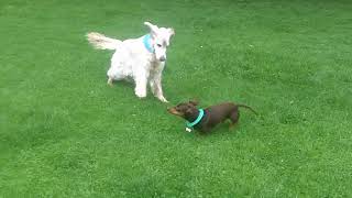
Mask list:
[[154,96],[167,102],[162,89],[162,74],[165,67],[166,48],[175,32],[173,29],[157,28],[150,22],[144,24],[151,32],[139,38],[120,41],[94,32],[88,33],[87,37],[96,48],[116,50],[108,70],[110,86],[113,80],[132,77],[138,97],[146,97],[146,87],[150,84]]

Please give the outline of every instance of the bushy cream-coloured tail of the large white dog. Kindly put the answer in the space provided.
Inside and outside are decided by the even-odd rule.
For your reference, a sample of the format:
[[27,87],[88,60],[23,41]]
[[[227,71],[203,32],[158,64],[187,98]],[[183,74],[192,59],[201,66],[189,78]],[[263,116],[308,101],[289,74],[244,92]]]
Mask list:
[[97,32],[88,33],[87,40],[96,48],[99,48],[99,50],[117,50],[119,47],[119,44],[122,43],[120,40],[107,37],[102,34],[97,33]]

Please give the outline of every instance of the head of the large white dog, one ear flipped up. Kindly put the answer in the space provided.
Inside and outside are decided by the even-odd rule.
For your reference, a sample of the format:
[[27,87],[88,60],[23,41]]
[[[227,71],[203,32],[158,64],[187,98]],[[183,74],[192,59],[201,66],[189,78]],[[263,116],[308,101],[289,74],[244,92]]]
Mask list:
[[169,40],[175,35],[174,29],[157,28],[156,25],[144,22],[151,30],[151,45],[154,48],[156,59],[161,62],[166,61],[166,50],[169,45]]

